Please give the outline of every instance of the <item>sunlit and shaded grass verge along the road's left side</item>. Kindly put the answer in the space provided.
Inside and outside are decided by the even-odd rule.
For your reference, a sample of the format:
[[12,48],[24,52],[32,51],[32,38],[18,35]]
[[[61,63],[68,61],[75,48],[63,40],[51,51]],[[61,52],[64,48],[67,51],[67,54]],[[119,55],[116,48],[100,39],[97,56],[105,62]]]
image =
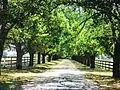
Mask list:
[[23,70],[2,69],[2,75],[0,76],[0,90],[17,90],[17,88],[20,88],[21,84],[36,78],[32,75],[45,72],[59,62],[60,60],[47,62],[45,64],[37,64]]

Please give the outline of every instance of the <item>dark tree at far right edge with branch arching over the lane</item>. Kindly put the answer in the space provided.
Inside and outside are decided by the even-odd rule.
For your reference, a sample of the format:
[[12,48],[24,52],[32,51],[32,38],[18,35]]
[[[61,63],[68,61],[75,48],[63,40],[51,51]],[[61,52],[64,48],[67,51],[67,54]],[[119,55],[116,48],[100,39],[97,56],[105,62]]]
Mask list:
[[[118,0],[59,0],[59,4],[65,4],[65,5],[76,5],[77,8],[81,8],[85,12],[89,12],[92,10],[94,13],[97,13],[93,18],[95,23],[98,23],[100,19],[103,19],[107,24],[110,24],[111,31],[112,31],[112,37],[113,37],[113,45],[114,45],[114,53],[112,55],[113,57],[113,77],[114,78],[120,78],[120,30],[119,30],[119,24],[120,24],[120,10],[119,6],[120,3]],[[88,20],[87,18],[86,20]],[[85,20],[85,21],[86,21]],[[85,22],[84,21],[84,22]],[[116,33],[117,32],[117,33]]]

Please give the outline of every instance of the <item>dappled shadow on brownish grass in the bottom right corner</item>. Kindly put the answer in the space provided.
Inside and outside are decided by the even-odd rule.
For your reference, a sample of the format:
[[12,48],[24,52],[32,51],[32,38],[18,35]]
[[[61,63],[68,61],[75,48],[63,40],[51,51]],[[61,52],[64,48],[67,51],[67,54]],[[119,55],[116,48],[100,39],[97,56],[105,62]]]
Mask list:
[[100,83],[104,90],[120,90],[120,80],[112,78],[112,76],[87,74],[86,78]]

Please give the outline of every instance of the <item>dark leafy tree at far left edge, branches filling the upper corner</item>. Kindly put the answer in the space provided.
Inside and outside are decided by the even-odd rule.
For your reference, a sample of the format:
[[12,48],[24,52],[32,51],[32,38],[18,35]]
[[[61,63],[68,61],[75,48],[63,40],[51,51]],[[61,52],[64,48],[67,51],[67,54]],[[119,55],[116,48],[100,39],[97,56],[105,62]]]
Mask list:
[[[30,2],[29,2],[30,3]],[[26,18],[29,17],[29,15],[34,14],[35,8],[26,8],[27,5],[29,5],[28,1],[23,1],[23,0],[2,0],[0,2],[1,7],[0,7],[0,13],[2,15],[0,16],[0,45],[1,45],[1,50],[0,50],[0,59],[2,57],[3,53],[3,46],[4,42],[6,40],[6,37],[8,35],[8,32],[14,27],[14,26],[21,26],[22,23],[26,20]],[[31,4],[31,7],[33,4]],[[33,11],[31,11],[33,10]],[[18,45],[17,45],[18,46]],[[18,46],[19,47],[19,46]]]

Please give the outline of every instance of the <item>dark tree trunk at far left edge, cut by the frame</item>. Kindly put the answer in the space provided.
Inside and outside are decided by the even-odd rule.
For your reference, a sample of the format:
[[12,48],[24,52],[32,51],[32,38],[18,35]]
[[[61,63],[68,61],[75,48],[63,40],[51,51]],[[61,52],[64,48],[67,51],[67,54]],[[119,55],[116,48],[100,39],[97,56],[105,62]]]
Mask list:
[[7,15],[8,15],[8,0],[1,1],[0,10],[0,75],[1,75],[1,59],[3,55],[5,38],[8,34],[9,29],[6,29]]

